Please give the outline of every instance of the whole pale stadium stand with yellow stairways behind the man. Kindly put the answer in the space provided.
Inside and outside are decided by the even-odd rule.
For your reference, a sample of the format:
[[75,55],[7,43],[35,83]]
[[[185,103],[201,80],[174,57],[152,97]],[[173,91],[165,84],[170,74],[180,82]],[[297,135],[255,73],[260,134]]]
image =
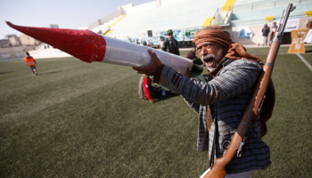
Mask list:
[[[207,25],[220,25],[236,38],[241,27],[248,27],[253,36],[249,41],[241,40],[240,43],[259,44],[263,25],[280,20],[288,4],[296,6],[290,15],[290,19],[297,18],[299,21],[296,28],[305,27],[304,23],[312,19],[312,0],[155,0],[147,4],[118,7],[119,11],[87,28],[98,34],[127,40],[147,37],[148,31],[152,32],[152,36],[160,36],[169,28],[186,31]],[[183,39],[178,41],[180,46],[192,45]]]

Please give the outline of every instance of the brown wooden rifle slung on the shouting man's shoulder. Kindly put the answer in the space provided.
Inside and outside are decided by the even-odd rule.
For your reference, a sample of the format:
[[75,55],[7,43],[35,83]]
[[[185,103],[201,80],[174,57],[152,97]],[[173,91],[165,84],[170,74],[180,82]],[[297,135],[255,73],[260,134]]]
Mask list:
[[[226,166],[237,155],[238,158],[242,156],[242,146],[244,145],[247,135],[252,127],[253,123],[257,120],[261,112],[261,107],[265,99],[265,93],[267,92],[267,86],[270,81],[272,70],[275,63],[275,58],[278,53],[280,44],[282,42],[283,30],[286,27],[286,23],[290,12],[296,7],[292,4],[288,5],[285,15],[280,20],[279,28],[276,31],[276,35],[273,43],[267,53],[266,63],[263,65],[263,70],[259,75],[255,89],[251,94],[250,101],[247,105],[242,120],[238,125],[233,139],[226,150],[226,154],[222,158],[217,158],[215,165],[209,167],[209,169],[201,175],[201,178],[224,178],[226,176]],[[284,12],[284,11],[283,11]],[[283,24],[281,24],[283,22]],[[210,169],[211,168],[211,169]]]

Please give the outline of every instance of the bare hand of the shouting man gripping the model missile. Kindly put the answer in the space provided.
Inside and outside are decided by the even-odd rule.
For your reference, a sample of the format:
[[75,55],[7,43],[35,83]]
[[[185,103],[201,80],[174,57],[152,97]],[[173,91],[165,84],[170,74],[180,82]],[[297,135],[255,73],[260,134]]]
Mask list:
[[147,76],[153,76],[156,69],[160,67],[162,62],[160,61],[160,59],[158,59],[156,53],[154,53],[151,49],[148,49],[147,52],[150,53],[152,57],[151,64],[145,67],[131,67],[131,68],[134,69],[136,73],[146,74]]

